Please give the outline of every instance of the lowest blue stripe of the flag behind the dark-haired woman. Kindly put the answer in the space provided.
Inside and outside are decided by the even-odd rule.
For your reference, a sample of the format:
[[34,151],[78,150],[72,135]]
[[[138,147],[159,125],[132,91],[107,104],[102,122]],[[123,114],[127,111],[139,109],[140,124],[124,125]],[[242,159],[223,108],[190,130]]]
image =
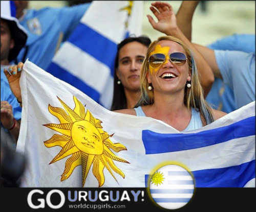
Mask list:
[[[99,103],[100,94],[98,91],[90,87],[88,84],[81,81],[79,78],[72,75],[67,70],[61,68],[56,63],[52,62],[51,65],[48,68],[48,72],[52,74],[53,76],[59,78],[60,80],[63,80],[79,90],[81,90],[83,93],[88,93],[90,97],[97,103]],[[60,74],[61,73],[61,74]],[[74,85],[75,82],[75,85]]]

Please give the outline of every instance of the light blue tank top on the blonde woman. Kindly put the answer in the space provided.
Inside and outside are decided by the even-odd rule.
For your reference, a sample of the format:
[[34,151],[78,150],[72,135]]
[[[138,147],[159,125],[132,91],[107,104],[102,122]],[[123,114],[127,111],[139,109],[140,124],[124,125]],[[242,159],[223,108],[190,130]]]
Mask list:
[[[134,109],[136,111],[137,116],[146,116],[141,106],[136,107]],[[203,123],[201,121],[200,112],[197,111],[195,108],[192,108],[191,120],[187,125],[186,129],[184,129],[183,131],[196,130],[201,127],[203,127]]]

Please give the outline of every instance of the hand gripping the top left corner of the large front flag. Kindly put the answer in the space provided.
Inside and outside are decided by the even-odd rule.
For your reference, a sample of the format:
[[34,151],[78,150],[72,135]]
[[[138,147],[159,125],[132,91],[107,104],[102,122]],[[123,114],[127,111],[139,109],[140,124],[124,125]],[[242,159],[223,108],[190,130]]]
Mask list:
[[5,76],[9,82],[10,88],[19,102],[22,102],[22,92],[19,87],[20,74],[22,73],[24,63],[19,62],[17,65],[4,69]]

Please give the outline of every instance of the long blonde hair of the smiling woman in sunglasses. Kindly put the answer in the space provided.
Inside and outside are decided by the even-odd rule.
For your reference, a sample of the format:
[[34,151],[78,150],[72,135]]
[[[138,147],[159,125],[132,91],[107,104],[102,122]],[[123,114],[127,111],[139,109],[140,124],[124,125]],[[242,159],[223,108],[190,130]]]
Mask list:
[[204,100],[203,88],[200,84],[199,74],[198,74],[197,66],[195,64],[195,60],[190,50],[187,48],[187,46],[181,40],[173,36],[159,37],[157,40],[152,42],[148,47],[147,54],[142,63],[142,67],[140,71],[141,96],[140,96],[140,100],[138,101],[135,107],[154,104],[154,89],[152,90],[147,89],[147,87],[150,84],[147,82],[146,75],[149,70],[148,58],[150,57],[151,52],[155,49],[156,44],[161,40],[169,40],[169,41],[177,42],[185,50],[187,63],[188,63],[188,71],[191,72],[191,81],[190,81],[191,87],[187,88],[187,86],[185,86],[184,105],[188,109],[193,107],[196,110],[199,110],[201,115],[203,115],[206,121],[206,124],[210,124],[211,122],[214,121],[214,116],[212,114],[213,110],[209,106],[209,104]]

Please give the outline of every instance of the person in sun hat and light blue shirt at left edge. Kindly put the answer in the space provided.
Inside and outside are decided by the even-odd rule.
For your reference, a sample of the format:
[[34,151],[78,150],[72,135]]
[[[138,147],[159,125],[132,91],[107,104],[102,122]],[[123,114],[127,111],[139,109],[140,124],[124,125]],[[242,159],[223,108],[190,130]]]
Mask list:
[[4,69],[25,45],[28,33],[15,17],[12,1],[1,1],[1,144],[16,147],[22,109],[10,90]]

